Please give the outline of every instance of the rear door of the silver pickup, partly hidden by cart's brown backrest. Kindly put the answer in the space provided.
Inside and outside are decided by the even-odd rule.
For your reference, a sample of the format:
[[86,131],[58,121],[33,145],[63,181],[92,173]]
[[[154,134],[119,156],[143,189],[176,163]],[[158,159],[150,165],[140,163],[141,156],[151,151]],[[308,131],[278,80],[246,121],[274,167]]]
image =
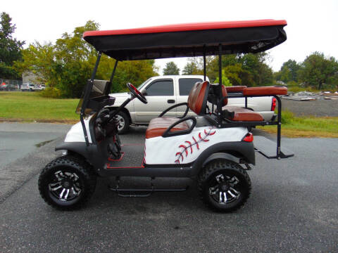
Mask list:
[[[184,103],[188,101],[189,92],[192,89],[192,86],[196,82],[202,82],[201,78],[181,78],[177,77],[178,82],[178,93],[177,93],[177,103]],[[180,106],[177,107],[177,117],[180,117],[184,114],[186,107]],[[195,115],[191,110],[188,112],[188,115]]]

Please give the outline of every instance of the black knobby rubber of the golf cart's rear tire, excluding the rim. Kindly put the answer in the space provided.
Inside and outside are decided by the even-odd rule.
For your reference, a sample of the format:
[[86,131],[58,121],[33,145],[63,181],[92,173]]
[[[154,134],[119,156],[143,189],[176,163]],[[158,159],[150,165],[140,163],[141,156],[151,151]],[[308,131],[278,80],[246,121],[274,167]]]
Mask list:
[[[237,200],[228,204],[220,204],[216,202],[209,194],[209,183],[218,174],[224,174],[228,176],[236,176],[240,183],[240,195]],[[206,164],[202,169],[198,177],[199,194],[201,200],[207,207],[217,212],[233,212],[242,205],[245,204],[251,193],[251,181],[246,171],[237,163],[229,160],[215,160]]]

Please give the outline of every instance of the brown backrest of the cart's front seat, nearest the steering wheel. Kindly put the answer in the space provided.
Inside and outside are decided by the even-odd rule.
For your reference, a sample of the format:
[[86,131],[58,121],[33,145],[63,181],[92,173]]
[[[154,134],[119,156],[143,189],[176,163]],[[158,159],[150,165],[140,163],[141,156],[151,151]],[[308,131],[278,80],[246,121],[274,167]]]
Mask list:
[[196,115],[204,115],[210,84],[208,81],[196,82],[188,97],[188,106]]

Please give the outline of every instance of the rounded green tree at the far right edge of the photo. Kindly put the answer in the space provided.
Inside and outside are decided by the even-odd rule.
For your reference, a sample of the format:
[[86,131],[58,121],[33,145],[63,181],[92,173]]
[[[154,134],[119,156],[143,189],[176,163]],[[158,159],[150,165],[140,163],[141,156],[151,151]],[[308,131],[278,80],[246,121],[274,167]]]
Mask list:
[[306,86],[313,86],[318,90],[323,89],[325,84],[336,87],[338,62],[334,57],[327,58],[323,53],[315,52],[301,63],[298,74]]

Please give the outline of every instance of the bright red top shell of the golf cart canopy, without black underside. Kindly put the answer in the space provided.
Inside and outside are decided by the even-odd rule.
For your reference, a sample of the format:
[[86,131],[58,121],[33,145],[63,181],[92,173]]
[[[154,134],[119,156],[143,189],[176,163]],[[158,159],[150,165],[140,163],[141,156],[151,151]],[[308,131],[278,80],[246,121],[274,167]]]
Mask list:
[[287,25],[286,20],[246,20],[246,21],[220,21],[220,22],[192,22],[176,25],[158,25],[154,27],[142,27],[123,30],[103,30],[103,31],[88,31],[84,32],[83,37],[88,36],[109,36],[122,34],[147,34],[158,32],[184,32],[196,30],[211,30],[225,28],[240,28],[240,27],[261,27],[271,25]]

